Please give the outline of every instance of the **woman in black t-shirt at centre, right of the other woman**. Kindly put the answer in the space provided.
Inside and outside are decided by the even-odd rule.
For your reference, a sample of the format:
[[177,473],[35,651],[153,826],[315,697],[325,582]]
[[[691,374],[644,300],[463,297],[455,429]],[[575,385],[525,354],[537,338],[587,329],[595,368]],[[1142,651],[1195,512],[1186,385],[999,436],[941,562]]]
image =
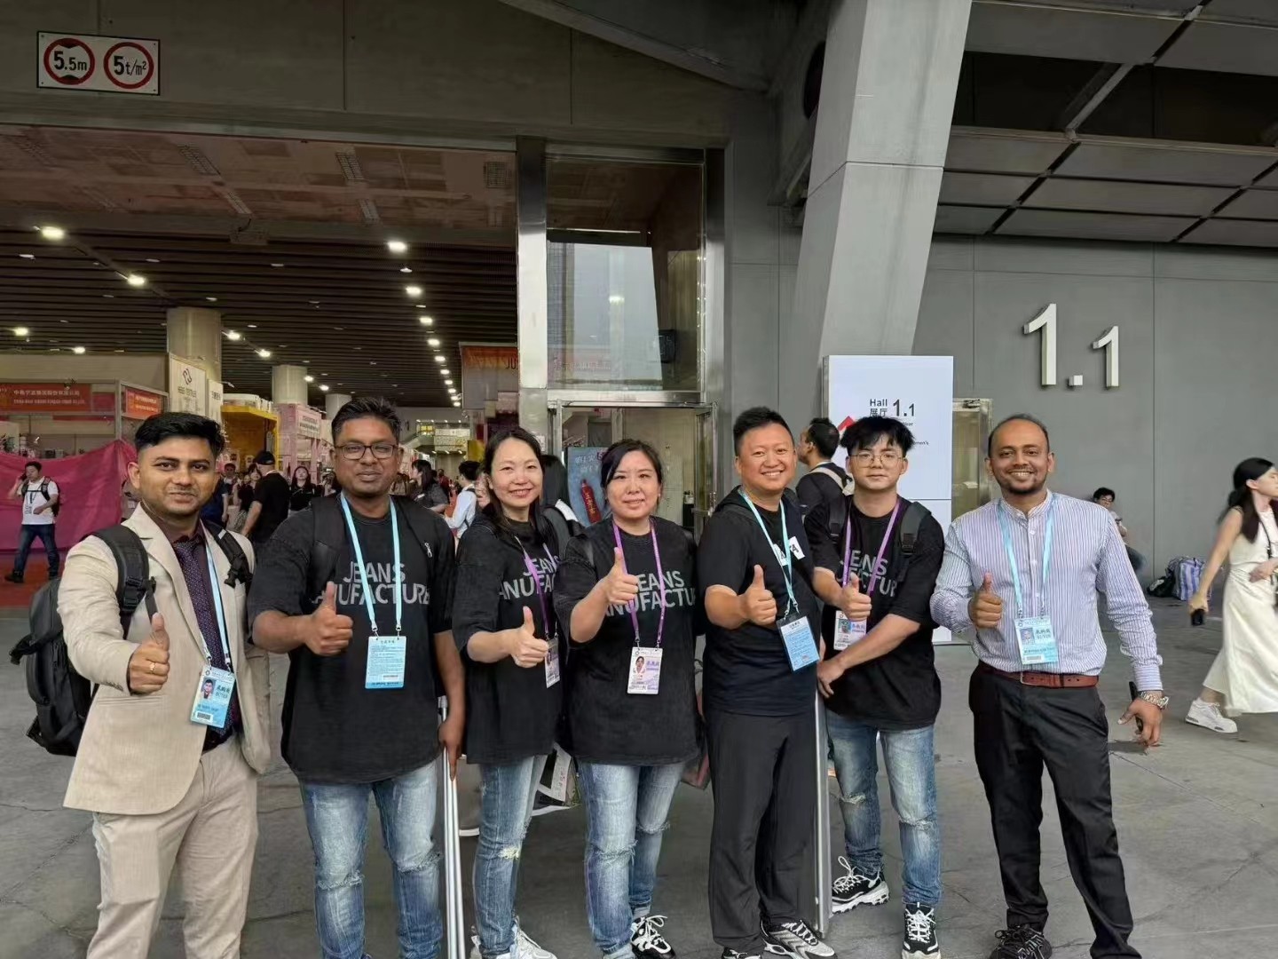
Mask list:
[[661,834],[697,753],[691,538],[653,515],[662,468],[639,440],[599,465],[611,517],[573,538],[555,578],[569,629],[567,720],[587,807],[587,912],[604,956],[672,955],[652,916]]

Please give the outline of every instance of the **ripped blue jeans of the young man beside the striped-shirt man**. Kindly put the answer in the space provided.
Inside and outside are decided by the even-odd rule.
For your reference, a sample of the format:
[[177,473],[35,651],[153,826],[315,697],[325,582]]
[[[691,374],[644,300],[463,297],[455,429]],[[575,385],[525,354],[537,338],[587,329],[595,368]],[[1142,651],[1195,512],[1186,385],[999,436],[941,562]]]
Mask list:
[[901,899],[937,905],[941,901],[941,825],[937,822],[933,728],[879,731],[826,710],[826,729],[838,775],[838,803],[843,813],[843,845],[849,861],[870,875],[883,868],[878,737],[883,740],[892,808],[901,821],[901,853],[905,857]]

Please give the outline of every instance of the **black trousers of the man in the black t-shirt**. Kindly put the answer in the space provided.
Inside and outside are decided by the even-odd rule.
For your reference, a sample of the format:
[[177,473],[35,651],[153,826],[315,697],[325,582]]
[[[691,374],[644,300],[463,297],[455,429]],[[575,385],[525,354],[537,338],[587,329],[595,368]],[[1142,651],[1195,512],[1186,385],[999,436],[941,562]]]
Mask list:
[[711,930],[721,946],[759,953],[760,919],[803,918],[803,882],[817,815],[817,728],[797,716],[708,711],[714,786]]

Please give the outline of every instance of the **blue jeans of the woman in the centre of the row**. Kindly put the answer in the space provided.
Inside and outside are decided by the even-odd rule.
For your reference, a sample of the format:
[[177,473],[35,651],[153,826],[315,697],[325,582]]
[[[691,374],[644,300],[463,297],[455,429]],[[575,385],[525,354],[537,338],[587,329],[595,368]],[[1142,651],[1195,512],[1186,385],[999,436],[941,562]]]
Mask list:
[[666,815],[684,763],[579,762],[585,799],[585,909],[604,959],[630,956],[630,927],[652,909]]

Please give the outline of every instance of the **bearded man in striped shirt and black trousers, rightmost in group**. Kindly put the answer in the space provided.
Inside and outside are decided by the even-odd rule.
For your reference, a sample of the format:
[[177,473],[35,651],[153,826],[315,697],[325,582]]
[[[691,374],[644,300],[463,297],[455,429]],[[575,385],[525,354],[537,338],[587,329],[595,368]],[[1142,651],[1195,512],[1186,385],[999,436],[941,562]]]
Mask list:
[[1135,959],[1109,795],[1109,724],[1097,693],[1105,662],[1097,593],[1143,690],[1121,721],[1135,719],[1140,742],[1158,745],[1167,701],[1149,605],[1109,514],[1048,491],[1056,458],[1047,427],[1008,417],[988,453],[1002,499],[950,527],[932,615],[967,633],[980,660],[969,702],[1008,924],[990,959],[1052,955],[1039,881],[1044,765],[1070,873],[1095,930],[1093,959]]

